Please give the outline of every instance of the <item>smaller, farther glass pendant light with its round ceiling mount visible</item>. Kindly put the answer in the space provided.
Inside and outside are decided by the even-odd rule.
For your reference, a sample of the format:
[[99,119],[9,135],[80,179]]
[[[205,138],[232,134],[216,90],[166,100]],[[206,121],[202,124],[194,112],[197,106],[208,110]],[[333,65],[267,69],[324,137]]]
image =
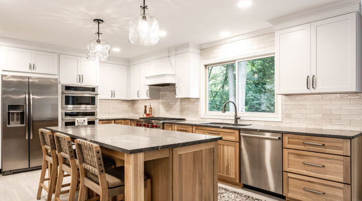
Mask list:
[[98,32],[96,33],[96,39],[90,40],[87,44],[86,58],[89,60],[108,61],[110,58],[110,45],[101,40],[101,34],[99,32],[99,25],[103,23],[103,20],[95,19],[93,22],[98,24]]

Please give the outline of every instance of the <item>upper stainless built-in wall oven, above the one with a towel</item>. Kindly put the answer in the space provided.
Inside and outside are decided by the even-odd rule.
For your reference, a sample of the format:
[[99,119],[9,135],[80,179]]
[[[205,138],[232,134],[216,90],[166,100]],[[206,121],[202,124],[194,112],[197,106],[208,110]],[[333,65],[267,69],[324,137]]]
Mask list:
[[97,86],[62,85],[62,110],[97,109]]

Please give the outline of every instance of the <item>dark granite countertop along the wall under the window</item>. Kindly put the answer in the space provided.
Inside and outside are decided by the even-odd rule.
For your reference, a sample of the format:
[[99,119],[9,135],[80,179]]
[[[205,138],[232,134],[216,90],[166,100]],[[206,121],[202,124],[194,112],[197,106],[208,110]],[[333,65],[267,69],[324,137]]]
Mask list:
[[319,137],[328,137],[328,138],[353,139],[362,135],[361,131],[264,126],[256,124],[250,126],[233,127],[233,126],[216,126],[208,124],[205,125],[203,123],[210,123],[210,122],[192,121],[192,120],[170,122],[170,124],[178,124],[178,125],[203,126],[211,128],[236,129],[244,131],[259,131],[259,132],[269,132],[269,133],[285,133],[285,134],[295,134],[295,135],[309,135],[309,136],[319,136]]

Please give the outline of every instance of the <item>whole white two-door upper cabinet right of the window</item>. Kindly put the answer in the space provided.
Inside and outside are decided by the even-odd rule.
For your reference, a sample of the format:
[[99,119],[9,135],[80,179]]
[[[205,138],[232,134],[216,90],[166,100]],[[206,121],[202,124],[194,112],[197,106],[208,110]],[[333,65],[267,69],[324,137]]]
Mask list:
[[341,15],[276,32],[276,93],[362,91],[361,19]]

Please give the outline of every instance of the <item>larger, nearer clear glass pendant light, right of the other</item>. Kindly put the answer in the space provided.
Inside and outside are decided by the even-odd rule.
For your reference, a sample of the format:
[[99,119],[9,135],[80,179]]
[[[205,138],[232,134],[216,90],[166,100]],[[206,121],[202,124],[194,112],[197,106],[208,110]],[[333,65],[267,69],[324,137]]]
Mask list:
[[143,0],[141,13],[131,19],[129,29],[129,42],[139,46],[152,46],[159,43],[158,20],[148,15],[148,6]]

